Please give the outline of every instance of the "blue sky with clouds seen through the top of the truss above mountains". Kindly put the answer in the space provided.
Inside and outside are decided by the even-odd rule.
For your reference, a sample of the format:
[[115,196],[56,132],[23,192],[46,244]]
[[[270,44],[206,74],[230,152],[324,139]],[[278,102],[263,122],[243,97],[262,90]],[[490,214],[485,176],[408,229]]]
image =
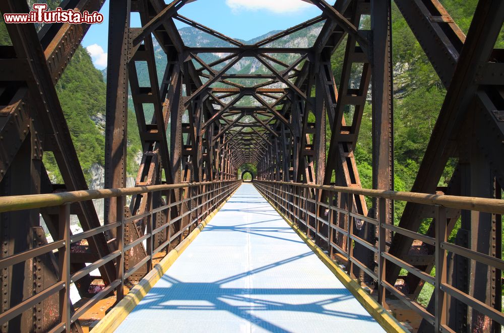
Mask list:
[[[91,26],[82,42],[99,69],[106,66],[108,6],[109,0],[105,2],[100,12],[105,16],[104,22]],[[301,0],[198,0],[185,5],[179,12],[180,15],[229,37],[244,40],[253,39],[272,30],[287,29],[319,16],[320,13],[317,7]],[[178,28],[185,26],[176,20],[175,23]],[[140,26],[138,15],[132,16],[131,26]]]

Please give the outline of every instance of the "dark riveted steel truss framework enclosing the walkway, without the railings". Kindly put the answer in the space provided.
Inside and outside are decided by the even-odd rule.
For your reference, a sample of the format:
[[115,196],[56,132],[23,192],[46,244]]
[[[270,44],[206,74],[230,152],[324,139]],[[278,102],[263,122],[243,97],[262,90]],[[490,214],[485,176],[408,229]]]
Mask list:
[[[335,182],[346,187],[361,187],[354,149],[364,106],[369,103],[368,89],[371,87],[372,187],[393,190],[393,82],[389,1],[341,0],[330,6],[324,0],[305,0],[317,6],[322,15],[254,45],[244,45],[241,41],[177,13],[185,4],[193,1],[174,0],[168,4],[164,0],[111,2],[105,158],[107,187],[125,185],[129,88],[143,147],[137,187],[236,179],[237,170],[244,163],[257,166],[258,179],[324,185]],[[439,190],[450,194],[486,197],[500,195],[497,194],[500,191],[499,184],[504,183],[504,154],[501,149],[501,142],[504,142],[504,116],[499,111],[503,104],[503,94],[500,75],[492,74],[502,72],[499,64],[501,52],[495,52],[493,47],[502,26],[504,6],[496,0],[480,1],[466,40],[437,0],[396,0],[396,3],[448,89],[412,191],[434,193]],[[99,10],[102,2],[68,1],[64,6],[74,7],[72,4],[80,10],[94,11]],[[2,6],[4,12],[27,10],[24,2],[15,3],[13,0],[6,1]],[[140,14],[141,28],[130,27],[132,12]],[[371,31],[359,28],[363,15],[370,15]],[[229,46],[188,47],[184,45],[174,20],[227,42]],[[287,48],[272,45],[283,37],[323,22],[322,31],[313,46]],[[13,47],[3,48],[9,58],[9,61],[3,62],[3,66],[14,64],[28,70],[18,71],[17,77],[7,72],[3,74],[6,79],[4,81],[15,82],[16,85],[16,89],[10,90],[10,104],[3,108],[7,117],[0,129],[4,140],[8,138],[13,143],[5,145],[5,150],[0,152],[0,181],[6,192],[14,193],[16,190],[13,184],[22,177],[21,172],[14,173],[9,168],[16,160],[29,162],[26,164],[30,165],[27,173],[31,173],[32,177],[22,183],[28,192],[54,190],[41,162],[44,150],[54,152],[66,190],[86,188],[53,86],[87,28],[85,25],[44,25],[37,38],[33,26],[8,27]],[[167,66],[159,81],[153,37],[167,57]],[[342,47],[340,44],[345,38],[347,42],[340,87],[336,87],[331,56],[337,47]],[[207,62],[205,53],[229,54]],[[290,60],[285,60],[286,55]],[[232,68],[245,58],[253,58],[264,72],[233,72]],[[147,63],[148,87],[139,84],[136,67],[138,62]],[[350,83],[352,66],[362,68],[357,87]],[[373,82],[370,86],[371,77]],[[26,82],[26,85],[20,82]],[[51,84],[42,85],[43,82]],[[244,101],[248,104],[244,105]],[[153,118],[147,121],[146,104],[153,110]],[[46,110],[49,110],[48,117],[34,116],[39,111],[43,111],[45,115]],[[326,118],[331,125],[327,155]],[[472,137],[464,133],[471,133]],[[439,177],[450,157],[459,157],[459,166],[449,186],[437,188]],[[204,193],[211,188],[204,186],[200,190]],[[381,221],[390,223],[392,203],[382,201],[378,207],[377,202],[373,202],[373,209],[368,212],[362,195],[341,196],[325,192],[328,191],[316,190],[314,187],[304,189],[298,195],[306,196],[306,200],[303,202],[302,197],[293,196],[292,204],[304,205],[305,212],[298,210],[298,215],[305,222],[307,234],[314,234],[314,240],[321,245],[326,240],[320,235],[330,236],[335,244],[354,258],[355,261],[348,262],[349,272],[366,280],[365,276],[372,276],[375,266],[383,268],[382,259],[375,263],[374,253],[365,246],[351,246],[346,243],[345,237],[338,234],[339,231],[333,233],[329,226],[321,226],[319,221],[326,218],[324,204],[339,205],[340,209],[363,216],[369,214],[369,218],[380,216]],[[193,222],[198,222],[204,215],[208,202],[201,196],[193,198],[192,195],[191,191],[180,189],[151,198],[137,195],[130,208],[133,214],[141,215],[157,205],[178,203],[170,208],[169,213],[156,216],[156,226],[164,225],[168,215],[178,218],[166,233],[156,238],[157,244],[163,244],[166,239],[173,237],[180,240],[183,237],[182,231],[186,227],[191,230]],[[121,208],[117,209],[114,205],[113,200],[110,204],[107,203],[106,223],[115,222],[115,214],[118,212],[122,215]],[[82,203],[77,209],[73,209],[85,229],[99,225],[91,204]],[[308,214],[308,210],[314,212],[314,216]],[[196,216],[193,216],[193,212]],[[55,215],[50,209],[42,209],[41,213],[48,221],[51,233],[56,233],[58,227],[57,221],[53,221]],[[494,231],[497,226],[495,217],[475,216],[460,211],[447,213],[447,230],[451,230],[461,216],[462,228],[456,241],[459,245],[481,247],[483,245],[478,240],[481,237],[499,237]],[[434,214],[435,211],[408,203],[400,226],[417,231],[421,220]],[[35,215],[28,214],[23,218],[33,220],[32,224],[36,227],[38,222],[35,222]],[[135,241],[134,239],[144,236],[145,232],[151,232],[155,227],[152,218],[142,218],[142,221],[137,221],[137,225],[128,224],[135,229],[127,232],[127,239]],[[376,243],[374,229],[367,222],[356,218],[346,219],[339,213],[330,213],[327,219],[334,226],[347,228],[359,239],[367,241],[367,244]],[[429,235],[439,229],[435,229],[434,224],[436,223],[432,223],[428,231]],[[30,232],[28,229],[23,230]],[[110,234],[114,237],[113,231]],[[470,237],[470,234],[476,234],[476,237]],[[91,240],[91,247],[95,251],[92,256],[101,257],[108,253],[106,239],[102,236],[100,234]],[[98,237],[101,238],[97,239]],[[499,251],[495,238],[489,240],[488,246],[485,245],[487,247],[481,247],[481,251],[496,256]],[[384,239],[381,237],[379,241],[381,251],[387,249],[390,240],[385,239],[385,244]],[[147,248],[142,247],[144,254],[152,251],[152,246],[153,240],[150,240]],[[410,247],[411,240],[396,233],[390,253],[401,260],[408,260]],[[428,256],[417,267],[429,272],[434,265],[434,252],[433,246],[427,246],[427,249]],[[334,255],[332,249],[331,254]],[[137,265],[135,258],[129,254],[126,257],[128,265]],[[450,283],[471,297],[497,308],[495,299],[498,293],[495,290],[499,289],[499,285],[485,281],[498,280],[499,272],[489,271],[487,275],[480,274],[469,281],[467,275],[477,274],[479,267],[470,265],[465,268],[467,260],[464,262],[459,257],[449,259],[454,267],[451,268],[453,281]],[[82,266],[82,257],[80,261],[73,263],[74,267]],[[149,270],[152,258],[145,263]],[[398,270],[394,269],[394,265],[387,265],[387,268],[387,278],[392,283],[397,278]],[[457,273],[459,268],[464,274]],[[47,272],[49,271],[50,269]],[[102,272],[105,282],[110,281],[114,274],[113,267]],[[405,280],[416,297],[422,287],[421,280],[412,274]],[[380,298],[385,299],[382,286],[379,290],[382,291]],[[431,312],[433,309],[439,310],[434,302],[437,300],[431,300],[428,307]],[[481,317],[476,312],[468,312],[459,303],[449,305],[451,325],[460,325],[466,320],[466,315],[465,322],[476,327],[482,320]]]

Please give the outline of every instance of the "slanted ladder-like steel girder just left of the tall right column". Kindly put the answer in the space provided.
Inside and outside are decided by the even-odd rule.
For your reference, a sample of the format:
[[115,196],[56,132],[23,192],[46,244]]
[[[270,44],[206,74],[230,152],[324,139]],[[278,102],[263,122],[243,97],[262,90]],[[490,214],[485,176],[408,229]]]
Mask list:
[[[361,15],[369,14],[369,7],[364,5],[365,4],[363,2],[354,2],[348,7],[347,10],[351,13],[349,13],[351,16],[351,22],[354,25],[359,25]],[[343,38],[343,35],[340,35],[340,38]],[[362,66],[358,88],[350,86],[350,73],[352,64],[354,63]],[[327,96],[325,100],[327,108],[329,109],[329,119],[333,119],[333,126],[331,127],[331,141],[329,144],[324,178],[325,185],[331,184],[334,175],[337,185],[361,187],[353,150],[356,146],[360,122],[364,111],[364,105],[366,103],[370,76],[371,67],[368,55],[364,53],[360,47],[357,47],[356,39],[353,38],[353,36],[348,35],[339,93],[336,94],[333,92],[331,87],[327,86],[324,90]],[[329,82],[334,80],[331,76],[327,77],[327,74],[324,75],[324,78],[329,78]],[[336,104],[334,104],[335,98],[337,98]],[[352,119],[350,119],[350,125],[347,125],[344,115],[346,107],[354,108]],[[341,200],[338,200],[340,207],[346,207],[347,203],[345,198],[340,199]],[[336,202],[334,202],[334,204],[336,204]],[[355,199],[352,200],[352,204],[354,205],[356,212],[367,216],[367,205],[363,196],[356,196]],[[344,216],[340,215],[339,223],[342,227],[344,227],[347,223]],[[358,230],[360,230],[360,232],[357,232]],[[367,224],[364,224],[363,228],[362,224],[357,225],[356,233],[359,237],[372,241],[372,235],[367,229]],[[346,248],[347,244],[345,243],[345,239],[343,237],[338,237],[338,242],[341,247]],[[356,253],[356,257],[358,257],[364,265],[367,267],[372,267],[374,265],[373,259],[368,254],[367,249],[357,244],[354,251]],[[354,272],[353,265],[351,263],[349,270]],[[356,274],[362,274],[357,268],[355,272]]]

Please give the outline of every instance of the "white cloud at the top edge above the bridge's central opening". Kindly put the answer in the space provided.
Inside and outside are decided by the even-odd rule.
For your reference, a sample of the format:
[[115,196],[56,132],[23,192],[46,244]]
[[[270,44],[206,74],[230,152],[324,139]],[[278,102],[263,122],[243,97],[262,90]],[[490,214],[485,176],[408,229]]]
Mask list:
[[267,10],[276,14],[300,12],[311,6],[302,0],[226,0],[226,5],[233,13],[239,13],[242,10]]

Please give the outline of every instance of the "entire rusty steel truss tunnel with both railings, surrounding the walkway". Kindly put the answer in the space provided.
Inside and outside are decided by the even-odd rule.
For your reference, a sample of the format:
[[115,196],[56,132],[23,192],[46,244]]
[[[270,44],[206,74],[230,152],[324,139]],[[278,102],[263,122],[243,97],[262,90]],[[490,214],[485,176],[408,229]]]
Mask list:
[[[55,89],[89,25],[6,24],[2,332],[86,331],[91,312],[129,301],[240,186],[251,186],[242,185],[245,173],[327,265],[344,271],[346,287],[363,287],[355,297],[364,308],[391,310],[397,327],[415,332],[501,330],[504,52],[495,42],[504,2],[479,0],[466,36],[438,0],[394,1],[447,90],[411,192],[394,192],[393,4],[303,1],[320,16],[245,44],[178,13],[196,0],[110,0],[100,190],[88,189]],[[92,13],[103,4],[65,0],[60,7]],[[29,11],[26,1],[0,0],[2,14]],[[132,14],[141,27],[131,26]],[[175,21],[218,46],[186,45]],[[318,24],[311,44],[277,46]],[[160,76],[156,45],[167,59]],[[335,78],[337,49],[344,58]],[[237,73],[244,61],[260,70]],[[362,188],[354,155],[366,104],[372,189]],[[132,188],[129,105],[143,149]],[[44,153],[53,154],[61,184],[51,183]],[[454,159],[449,185],[439,187]],[[255,170],[240,169],[245,164]],[[103,218],[93,204],[102,199]],[[405,204],[400,216],[397,203]],[[71,220],[83,231],[71,230]],[[425,285],[432,286],[427,305],[418,300]]]

